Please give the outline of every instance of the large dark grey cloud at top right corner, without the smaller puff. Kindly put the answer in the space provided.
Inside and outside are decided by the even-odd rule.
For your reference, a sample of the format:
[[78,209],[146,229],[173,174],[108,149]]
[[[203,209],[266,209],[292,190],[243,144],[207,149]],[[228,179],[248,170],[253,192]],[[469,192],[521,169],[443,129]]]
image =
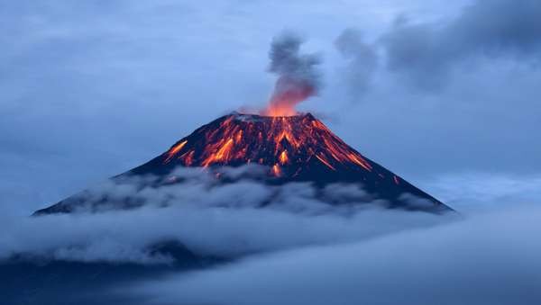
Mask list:
[[390,71],[420,87],[437,89],[456,67],[473,58],[538,62],[539,15],[541,3],[536,0],[478,0],[443,24],[402,18],[381,37],[381,45]]

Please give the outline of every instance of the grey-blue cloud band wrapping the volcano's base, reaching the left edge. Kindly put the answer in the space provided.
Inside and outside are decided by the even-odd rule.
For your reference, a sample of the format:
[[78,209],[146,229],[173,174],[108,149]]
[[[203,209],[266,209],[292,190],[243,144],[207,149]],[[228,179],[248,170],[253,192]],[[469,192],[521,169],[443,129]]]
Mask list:
[[[233,179],[240,172],[223,175]],[[87,204],[69,214],[2,215],[0,259],[169,264],[174,258],[152,251],[155,245],[178,242],[197,256],[227,258],[374,238],[456,218],[389,210],[358,185],[316,190],[307,183],[278,187],[243,179],[213,185],[211,176],[188,168],[168,177],[183,181],[169,186],[142,187],[160,179],[152,176],[108,181],[79,194]]]

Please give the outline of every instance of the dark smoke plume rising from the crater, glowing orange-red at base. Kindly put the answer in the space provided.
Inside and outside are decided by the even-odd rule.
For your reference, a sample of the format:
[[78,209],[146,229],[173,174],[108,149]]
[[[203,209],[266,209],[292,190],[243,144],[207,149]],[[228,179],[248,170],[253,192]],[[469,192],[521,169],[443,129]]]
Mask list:
[[284,32],[271,43],[269,72],[278,76],[265,114],[294,115],[295,106],[317,94],[320,86],[316,54],[301,54],[304,40],[296,33]]

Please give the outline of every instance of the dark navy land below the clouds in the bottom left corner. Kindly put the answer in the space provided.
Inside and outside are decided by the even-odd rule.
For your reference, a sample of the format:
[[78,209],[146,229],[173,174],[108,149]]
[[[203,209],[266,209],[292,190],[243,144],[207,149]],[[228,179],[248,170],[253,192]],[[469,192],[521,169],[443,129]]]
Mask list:
[[196,255],[179,242],[153,245],[174,260],[168,265],[122,262],[77,262],[18,255],[0,262],[0,304],[94,305],[140,304],[136,298],[121,297],[111,287],[133,281],[160,278],[173,272],[200,270],[228,261]]

